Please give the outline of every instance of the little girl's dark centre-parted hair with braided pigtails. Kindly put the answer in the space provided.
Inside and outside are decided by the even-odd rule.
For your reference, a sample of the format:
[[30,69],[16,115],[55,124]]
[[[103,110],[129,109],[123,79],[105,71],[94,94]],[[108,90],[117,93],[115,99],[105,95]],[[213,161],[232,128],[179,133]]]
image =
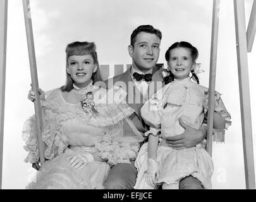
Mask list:
[[[179,48],[179,47],[189,49],[191,52],[192,61],[195,62],[197,60],[198,50],[196,47],[193,47],[193,45],[188,42],[176,42],[173,45],[171,45],[168,50],[166,50],[166,54],[165,54],[166,61],[169,61],[169,59],[170,59],[171,50],[173,50],[175,48]],[[171,71],[168,71],[168,72],[170,74],[169,74],[168,78],[165,78],[165,80],[164,80],[166,84],[170,83],[171,81],[174,80],[174,75],[171,73]],[[195,77],[195,80],[197,80],[197,83],[199,84],[197,74],[195,74],[195,72],[193,70],[191,71],[191,73],[192,73],[192,76]]]

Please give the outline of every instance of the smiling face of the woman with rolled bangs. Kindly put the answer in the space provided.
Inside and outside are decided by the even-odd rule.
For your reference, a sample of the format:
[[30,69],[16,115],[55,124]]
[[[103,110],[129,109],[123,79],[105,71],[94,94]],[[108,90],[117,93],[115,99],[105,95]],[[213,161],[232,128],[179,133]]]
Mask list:
[[70,74],[78,88],[87,86],[92,78],[92,73],[97,71],[97,64],[91,55],[70,56],[68,57],[68,66],[66,71]]

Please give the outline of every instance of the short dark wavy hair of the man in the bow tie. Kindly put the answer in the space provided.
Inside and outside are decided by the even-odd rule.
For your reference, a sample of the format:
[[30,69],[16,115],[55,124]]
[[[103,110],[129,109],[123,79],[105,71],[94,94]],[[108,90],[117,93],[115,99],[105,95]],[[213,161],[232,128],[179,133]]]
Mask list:
[[155,29],[152,25],[140,25],[135,30],[133,30],[133,33],[131,33],[131,46],[134,47],[136,36],[140,32],[146,32],[146,33],[153,33],[155,34],[160,40],[162,39],[162,33],[160,30]]

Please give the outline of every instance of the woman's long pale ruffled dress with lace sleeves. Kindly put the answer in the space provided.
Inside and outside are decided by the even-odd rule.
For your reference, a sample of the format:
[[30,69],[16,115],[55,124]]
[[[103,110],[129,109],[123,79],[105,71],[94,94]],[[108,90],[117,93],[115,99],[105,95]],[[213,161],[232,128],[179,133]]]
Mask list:
[[[116,94],[121,102],[106,104],[108,94],[103,89],[90,86],[87,92],[94,95],[97,113],[66,102],[60,88],[51,90],[42,102],[46,109],[42,141],[47,161],[27,189],[102,189],[111,165],[130,163],[137,156],[143,136],[129,118],[134,111],[123,102],[123,95]],[[25,122],[23,140],[28,151],[25,162],[38,162],[35,116]],[[97,153],[106,162],[93,161],[75,169],[66,160],[75,152]]]

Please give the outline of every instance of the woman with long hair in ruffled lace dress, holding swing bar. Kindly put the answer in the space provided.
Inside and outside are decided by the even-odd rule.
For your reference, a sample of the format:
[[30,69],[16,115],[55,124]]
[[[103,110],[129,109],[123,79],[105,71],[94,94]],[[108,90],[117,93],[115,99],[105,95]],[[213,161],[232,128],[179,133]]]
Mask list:
[[[28,189],[102,189],[111,165],[130,163],[143,141],[129,116],[134,110],[120,100],[106,104],[95,44],[73,42],[66,47],[66,85],[40,90],[44,119],[42,141],[47,162],[39,169],[35,117],[25,122],[26,162],[37,163]],[[114,89],[113,89],[114,90]],[[101,96],[102,95],[102,96]],[[34,100],[34,92],[30,92]]]

